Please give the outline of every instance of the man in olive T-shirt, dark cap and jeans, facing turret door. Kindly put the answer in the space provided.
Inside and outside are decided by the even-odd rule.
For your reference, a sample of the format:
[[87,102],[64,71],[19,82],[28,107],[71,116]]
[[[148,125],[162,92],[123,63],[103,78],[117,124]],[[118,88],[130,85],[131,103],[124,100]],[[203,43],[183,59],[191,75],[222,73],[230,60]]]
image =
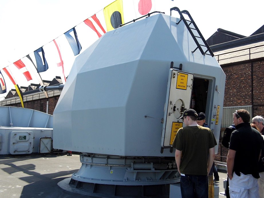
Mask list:
[[208,174],[214,161],[217,142],[209,128],[197,124],[198,114],[187,109],[182,119],[186,127],[180,128],[172,146],[181,174],[182,197],[208,197]]

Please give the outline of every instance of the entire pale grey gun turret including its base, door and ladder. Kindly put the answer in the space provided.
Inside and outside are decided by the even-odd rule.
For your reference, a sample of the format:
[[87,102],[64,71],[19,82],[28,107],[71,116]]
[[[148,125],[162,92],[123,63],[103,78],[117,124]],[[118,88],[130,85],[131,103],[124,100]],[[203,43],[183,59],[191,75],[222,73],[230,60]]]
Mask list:
[[206,114],[219,142],[225,74],[188,11],[171,11],[180,18],[121,26],[74,61],[53,113],[54,148],[82,153],[74,187],[168,195],[180,181],[171,145],[190,107]]

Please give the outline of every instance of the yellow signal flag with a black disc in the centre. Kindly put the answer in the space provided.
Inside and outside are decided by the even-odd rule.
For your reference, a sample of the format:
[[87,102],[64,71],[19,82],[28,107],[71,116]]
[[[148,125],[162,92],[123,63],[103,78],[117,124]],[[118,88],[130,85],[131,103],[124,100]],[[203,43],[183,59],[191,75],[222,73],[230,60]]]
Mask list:
[[107,31],[116,29],[124,23],[123,1],[116,0],[104,8]]

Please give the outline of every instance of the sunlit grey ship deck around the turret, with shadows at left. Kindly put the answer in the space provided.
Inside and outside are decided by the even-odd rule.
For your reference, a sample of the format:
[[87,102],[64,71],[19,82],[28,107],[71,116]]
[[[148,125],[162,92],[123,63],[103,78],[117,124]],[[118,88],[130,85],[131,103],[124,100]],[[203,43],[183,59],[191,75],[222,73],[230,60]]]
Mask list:
[[[81,166],[79,154],[0,156],[0,197],[93,197],[66,191],[58,183],[70,178]],[[219,172],[219,197],[224,197],[226,173]]]

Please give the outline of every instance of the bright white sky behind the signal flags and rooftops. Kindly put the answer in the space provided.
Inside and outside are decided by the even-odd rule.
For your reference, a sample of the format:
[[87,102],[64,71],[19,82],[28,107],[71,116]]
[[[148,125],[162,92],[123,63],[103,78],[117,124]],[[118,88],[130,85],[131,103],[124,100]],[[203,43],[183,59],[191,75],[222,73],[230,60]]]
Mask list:
[[[38,84],[36,77],[34,77],[34,68],[28,68],[33,80],[26,81],[23,74],[12,63],[21,58],[22,61],[26,62],[24,57],[28,54],[34,58],[33,52],[42,46],[44,46],[49,64],[49,69],[40,73],[42,79],[51,81],[55,76],[61,75],[61,68],[56,66],[59,59],[58,57],[54,58],[54,54],[58,54],[52,42],[54,39],[60,45],[65,76],[68,76],[76,56],[73,55],[63,34],[76,26],[76,32],[82,45],[82,53],[98,39],[97,34],[84,25],[83,21],[96,13],[106,30],[103,8],[113,1],[1,0],[0,69],[6,82],[7,93],[14,89],[14,85],[2,70],[6,66],[9,66],[19,86],[27,87],[30,83]],[[134,7],[137,1],[123,0],[125,23],[136,18]],[[211,0],[152,1],[155,5],[155,11],[165,12],[167,15],[170,15],[171,7],[189,11],[205,39],[214,34],[218,28],[243,36],[250,36],[263,26],[264,1],[251,0],[246,3],[227,0],[214,3]],[[176,12],[172,13],[172,16],[179,17]],[[101,34],[103,33],[101,32]],[[3,100],[7,93],[0,94],[0,100]]]

